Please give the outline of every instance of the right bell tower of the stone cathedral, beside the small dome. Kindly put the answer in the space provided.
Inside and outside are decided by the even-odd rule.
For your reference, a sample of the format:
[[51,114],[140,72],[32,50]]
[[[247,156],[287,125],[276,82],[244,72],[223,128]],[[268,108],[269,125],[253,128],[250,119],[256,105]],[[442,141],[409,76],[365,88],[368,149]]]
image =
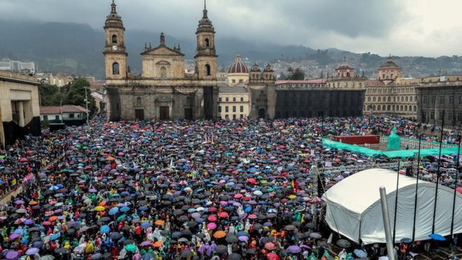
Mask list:
[[216,80],[216,51],[215,51],[215,29],[211,20],[207,16],[207,6],[204,0],[204,11],[202,19],[197,27],[197,48],[196,55],[196,71],[195,73],[200,79]]

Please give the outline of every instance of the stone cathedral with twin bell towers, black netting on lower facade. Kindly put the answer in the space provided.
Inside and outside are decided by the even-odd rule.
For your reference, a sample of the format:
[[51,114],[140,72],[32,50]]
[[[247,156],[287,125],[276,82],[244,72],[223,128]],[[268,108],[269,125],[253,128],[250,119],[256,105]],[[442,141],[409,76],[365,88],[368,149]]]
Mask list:
[[127,67],[125,27],[116,4],[104,24],[106,44],[106,110],[109,121],[212,119],[217,117],[218,86],[215,29],[204,4],[197,27],[195,74],[183,69],[178,47],[169,48],[164,34],[157,47],[145,46],[141,53],[141,74]]

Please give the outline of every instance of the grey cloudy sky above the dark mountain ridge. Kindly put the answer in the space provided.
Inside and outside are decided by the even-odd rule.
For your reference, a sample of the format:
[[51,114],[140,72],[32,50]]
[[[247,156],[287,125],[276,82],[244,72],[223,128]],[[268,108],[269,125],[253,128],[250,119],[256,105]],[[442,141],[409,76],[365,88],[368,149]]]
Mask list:
[[[101,29],[111,0],[0,0],[0,19]],[[116,0],[127,29],[194,37],[203,0]],[[462,55],[460,0],[208,0],[218,37],[379,55]]]

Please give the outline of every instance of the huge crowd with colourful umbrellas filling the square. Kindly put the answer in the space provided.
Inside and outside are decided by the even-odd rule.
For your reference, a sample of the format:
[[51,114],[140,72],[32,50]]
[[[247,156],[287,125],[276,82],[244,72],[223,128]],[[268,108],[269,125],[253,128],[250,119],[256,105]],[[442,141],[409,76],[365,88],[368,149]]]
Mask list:
[[[26,137],[0,151],[1,185],[23,185],[0,205],[0,256],[328,259],[332,242],[346,249],[339,258],[361,257],[355,249],[378,258],[380,250],[325,235],[320,193],[354,172],[320,177],[311,167],[389,161],[325,149],[321,137],[388,135],[393,127],[407,137],[421,131],[412,121],[379,117],[94,118]],[[444,142],[455,140],[453,132],[444,135]]]

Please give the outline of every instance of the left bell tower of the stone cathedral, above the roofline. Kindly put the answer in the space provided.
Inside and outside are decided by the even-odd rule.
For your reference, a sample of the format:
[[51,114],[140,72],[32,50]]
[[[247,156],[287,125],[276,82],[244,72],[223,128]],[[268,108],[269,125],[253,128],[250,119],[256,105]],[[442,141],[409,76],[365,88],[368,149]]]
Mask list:
[[106,44],[104,46],[104,60],[106,64],[106,79],[127,78],[127,51],[125,50],[122,18],[117,14],[114,0],[111,13],[104,23]]

